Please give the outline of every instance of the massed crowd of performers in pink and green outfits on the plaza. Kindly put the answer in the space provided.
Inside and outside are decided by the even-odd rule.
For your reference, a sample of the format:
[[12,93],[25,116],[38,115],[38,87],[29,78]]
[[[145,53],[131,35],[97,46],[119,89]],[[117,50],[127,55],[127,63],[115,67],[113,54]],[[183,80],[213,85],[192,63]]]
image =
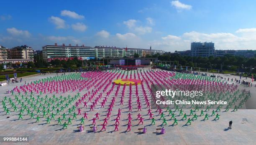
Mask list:
[[[116,79],[138,79],[141,84],[113,83]],[[217,94],[205,95],[205,98],[229,100],[227,106],[191,106],[190,113],[184,113],[186,106],[157,106],[151,109],[151,85],[165,87],[179,84],[219,86]],[[211,90],[210,90],[211,91]],[[74,96],[70,95],[75,94]],[[38,81],[16,86],[11,96],[1,101],[6,115],[15,115],[17,119],[31,119],[34,122],[58,122],[62,129],[68,129],[74,120],[80,120],[79,129],[89,124],[92,131],[106,131],[113,124],[112,131],[131,131],[133,125],[144,126],[144,120],[151,120],[150,125],[160,124],[161,133],[165,133],[164,125],[192,125],[198,118],[203,120],[220,119],[220,109],[232,111],[241,108],[250,97],[249,92],[238,90],[236,85],[227,85],[220,79],[194,74],[182,74],[161,70],[130,70],[113,69],[84,73],[62,74],[47,77]],[[202,110],[201,108],[206,108]],[[193,108],[193,109],[192,109]],[[146,113],[145,113],[146,112]],[[88,115],[94,116],[88,118]],[[101,115],[101,116],[100,116]],[[124,119],[125,124],[120,124]],[[184,122],[186,120],[186,122]],[[198,119],[199,120],[199,119]],[[122,120],[123,122],[123,120]],[[159,123],[160,122],[160,123]],[[99,129],[97,129],[99,128]],[[146,133],[146,127],[141,128]],[[111,130],[110,130],[111,131]]]

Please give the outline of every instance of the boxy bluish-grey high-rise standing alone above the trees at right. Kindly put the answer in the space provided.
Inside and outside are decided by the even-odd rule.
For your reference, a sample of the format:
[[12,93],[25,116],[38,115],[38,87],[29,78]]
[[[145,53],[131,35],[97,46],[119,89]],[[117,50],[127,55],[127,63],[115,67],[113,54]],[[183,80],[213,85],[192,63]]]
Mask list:
[[210,57],[214,56],[214,43],[212,42],[192,42],[191,56],[192,57]]

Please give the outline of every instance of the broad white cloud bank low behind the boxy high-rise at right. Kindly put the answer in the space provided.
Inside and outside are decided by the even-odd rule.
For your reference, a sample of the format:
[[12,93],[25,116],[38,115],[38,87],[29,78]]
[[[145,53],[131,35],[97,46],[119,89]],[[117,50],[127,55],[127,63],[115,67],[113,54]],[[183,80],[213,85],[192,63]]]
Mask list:
[[153,40],[153,45],[165,51],[189,50],[191,42],[214,42],[215,49],[256,49],[256,31],[238,29],[234,33],[200,33],[196,31],[185,32],[181,36],[167,35],[161,40]]

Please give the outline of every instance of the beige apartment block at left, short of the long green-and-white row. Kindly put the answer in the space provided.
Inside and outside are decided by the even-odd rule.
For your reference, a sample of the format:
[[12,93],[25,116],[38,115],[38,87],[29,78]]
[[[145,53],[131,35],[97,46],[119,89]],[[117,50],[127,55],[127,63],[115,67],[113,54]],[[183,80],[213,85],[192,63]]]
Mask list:
[[33,59],[34,52],[31,47],[27,45],[17,46],[8,49],[8,59]]

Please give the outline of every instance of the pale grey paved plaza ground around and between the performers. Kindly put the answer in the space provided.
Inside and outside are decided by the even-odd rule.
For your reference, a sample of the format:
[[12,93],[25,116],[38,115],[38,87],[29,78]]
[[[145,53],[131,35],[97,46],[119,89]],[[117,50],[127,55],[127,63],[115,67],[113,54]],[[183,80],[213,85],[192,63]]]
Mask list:
[[[146,81],[150,82],[150,80],[158,80],[157,76],[165,76],[169,75],[172,72],[164,71],[165,73],[159,71],[157,73],[157,69],[154,69],[154,72],[149,68],[144,68],[143,71],[149,73],[133,73],[137,71],[130,71],[128,74],[128,78],[139,79],[138,74],[140,74],[140,79],[143,81],[143,86],[146,91],[146,96],[150,99],[149,88],[146,85]],[[143,72],[142,71],[142,72]],[[209,73],[212,74],[212,73]],[[22,108],[21,105],[17,105],[18,111],[13,111],[11,105],[6,101],[7,108],[10,108],[10,115],[6,115],[6,111],[4,111],[2,101],[4,97],[10,98],[16,102],[15,95],[18,99],[21,99],[21,96],[18,96],[18,92],[15,92],[13,95],[11,93],[6,93],[8,90],[12,90],[16,86],[19,88],[21,85],[24,85],[25,81],[30,83],[31,81],[42,80],[45,78],[59,78],[61,75],[64,74],[46,74],[46,75],[36,75],[30,77],[23,77],[23,81],[21,83],[14,83],[8,84],[6,86],[0,86],[0,136],[28,136],[28,143],[0,143],[1,145],[13,145],[13,144],[22,144],[22,145],[53,145],[53,144],[63,144],[63,145],[255,145],[256,143],[256,110],[255,109],[238,109],[238,111],[233,111],[230,109],[228,112],[224,112],[225,109],[221,109],[218,111],[220,114],[219,120],[214,120],[216,116],[209,116],[208,120],[203,120],[204,116],[198,116],[197,120],[193,120],[191,125],[185,125],[187,120],[181,120],[182,116],[177,116],[178,118],[178,125],[172,125],[174,122],[171,119],[171,116],[168,116],[168,112],[165,112],[166,109],[163,109],[164,114],[166,115],[165,118],[167,120],[167,125],[163,125],[166,130],[165,134],[156,133],[156,128],[161,128],[161,124],[163,120],[160,120],[159,113],[156,110],[152,110],[151,112],[154,114],[154,118],[156,119],[156,125],[151,125],[151,119],[149,119],[148,114],[148,107],[146,105],[146,101],[143,94],[143,89],[141,85],[138,85],[138,97],[136,96],[136,85],[131,86],[132,95],[131,95],[131,104],[132,104],[132,111],[129,111],[128,102],[129,102],[129,89],[130,86],[119,86],[113,84],[112,82],[116,79],[125,78],[127,72],[125,71],[108,71],[108,74],[86,74],[84,73],[84,78],[77,79],[77,76],[80,76],[79,73],[66,73],[65,75],[72,76],[72,79],[76,79],[76,81],[64,81],[70,84],[67,87],[68,91],[62,90],[56,93],[56,90],[53,90],[51,93],[47,91],[46,93],[40,95],[40,98],[47,95],[49,98],[53,98],[52,96],[55,95],[57,98],[60,96],[70,98],[76,98],[72,101],[72,104],[68,105],[68,107],[64,108],[64,111],[61,111],[60,115],[56,115],[55,119],[50,120],[50,123],[46,123],[46,117],[43,116],[43,111],[41,110],[41,115],[39,115],[40,122],[36,122],[36,119],[30,119],[30,115],[27,115],[27,111],[24,111],[23,119],[19,118],[19,111]],[[123,76],[122,76],[123,75]],[[155,76],[154,76],[155,75]],[[218,74],[215,74],[218,75]],[[230,74],[220,74],[223,78],[233,78],[239,79],[239,76],[232,76]],[[81,75],[82,77],[82,75]],[[143,79],[144,78],[144,79]],[[148,78],[148,80],[146,79]],[[95,82],[92,82],[93,80]],[[245,79],[242,77],[242,80],[251,81],[251,79]],[[65,85],[61,84],[62,79],[56,80],[54,85]],[[50,82],[50,81],[49,81]],[[80,82],[80,84],[75,84]],[[85,83],[88,84],[85,84]],[[234,82],[234,81],[233,81]],[[35,82],[40,84],[40,82]],[[58,84],[59,83],[59,84]],[[84,83],[84,84],[82,84]],[[232,84],[231,81],[228,84]],[[236,84],[236,83],[235,83]],[[53,85],[53,84],[51,84]],[[72,87],[76,87],[73,88]],[[256,104],[256,83],[253,82],[252,87],[243,86],[243,89],[251,92],[251,98],[248,99],[246,108],[253,108]],[[24,89],[32,89],[34,94],[34,98],[39,95],[39,92],[36,92],[36,87],[38,86],[31,86],[31,88],[24,88]],[[71,87],[71,88],[70,88]],[[56,88],[61,88],[61,86],[57,86]],[[70,89],[69,89],[70,88]],[[81,89],[79,89],[81,88]],[[98,91],[96,92],[96,90]],[[43,89],[42,89],[43,90]],[[21,89],[20,89],[21,91]],[[122,95],[122,91],[124,91],[124,96]],[[89,93],[90,92],[90,93]],[[95,94],[92,94],[95,92]],[[107,92],[110,92],[107,95]],[[21,94],[24,94],[24,90]],[[78,107],[75,108],[75,111],[72,111],[71,115],[68,115],[69,108],[72,106],[76,106],[76,102],[80,99],[80,97],[87,94],[87,107],[84,107],[84,103],[79,104]],[[89,95],[90,94],[90,95]],[[100,97],[100,94],[102,96]],[[77,97],[75,97],[77,96]],[[93,96],[92,101],[89,101],[88,98]],[[26,96],[25,96],[26,97]],[[24,97],[24,98],[25,98]],[[28,92],[27,98],[30,98],[30,93]],[[49,99],[48,98],[48,99]],[[92,102],[95,99],[98,101],[93,111],[90,111],[90,106],[93,105]],[[101,107],[101,103],[104,99],[107,99],[104,107]],[[113,101],[113,98],[115,100]],[[121,99],[123,98],[123,104],[120,104]],[[17,100],[18,100],[17,99]],[[141,111],[138,111],[138,100],[141,102],[142,108]],[[21,100],[22,102],[27,102],[25,100]],[[43,101],[42,101],[43,102]],[[49,101],[50,102],[50,101]],[[102,124],[104,124],[104,119],[107,117],[108,107],[113,103],[113,108],[111,114],[108,119],[108,124],[106,125],[106,131],[100,131],[102,128]],[[47,103],[46,103],[47,104]],[[46,105],[45,104],[45,105]],[[63,106],[65,103],[63,104]],[[52,104],[51,107],[52,108]],[[56,106],[56,104],[55,104]],[[60,105],[61,106],[61,105]],[[29,106],[28,106],[29,107]],[[60,108],[60,107],[59,107]],[[68,125],[68,129],[62,129],[62,125],[58,125],[57,118],[62,118],[62,114],[67,114],[67,119],[61,120],[62,124],[64,122],[68,122],[68,118],[73,118],[73,113],[78,113],[78,108],[81,108],[81,115],[77,115],[77,119],[72,119],[72,124]],[[29,108],[33,110],[32,108]],[[118,126],[119,131],[115,130],[115,118],[118,115],[118,109],[121,109],[120,113],[120,124]],[[47,109],[46,109],[47,110]],[[52,111],[56,112],[56,111]],[[84,112],[88,113],[87,118],[84,120],[84,131],[79,132],[77,131],[77,127],[80,125],[80,119],[84,117]],[[200,112],[200,111],[199,111]],[[36,114],[36,111],[34,111]],[[90,131],[90,127],[92,127],[92,119],[95,117],[95,114],[99,113],[99,119],[97,119],[96,126],[97,131],[92,132]],[[128,114],[131,113],[131,131],[126,131],[128,128]],[[137,115],[140,113],[142,115],[143,125],[138,125],[140,120],[137,120]],[[184,113],[189,114],[189,110],[185,109]],[[211,111],[209,111],[211,113]],[[178,112],[175,112],[178,114]],[[197,113],[198,114],[198,113]],[[200,114],[200,113],[199,113]],[[198,114],[198,115],[199,115]],[[217,113],[216,113],[217,114]],[[36,117],[37,115],[35,115]],[[47,115],[47,117],[51,117],[51,115]],[[9,118],[8,118],[9,117]],[[192,116],[191,116],[192,117]],[[189,117],[187,117],[189,118]],[[232,120],[232,129],[228,129],[228,123]],[[138,128],[143,128],[146,126],[147,133],[139,133]]]

